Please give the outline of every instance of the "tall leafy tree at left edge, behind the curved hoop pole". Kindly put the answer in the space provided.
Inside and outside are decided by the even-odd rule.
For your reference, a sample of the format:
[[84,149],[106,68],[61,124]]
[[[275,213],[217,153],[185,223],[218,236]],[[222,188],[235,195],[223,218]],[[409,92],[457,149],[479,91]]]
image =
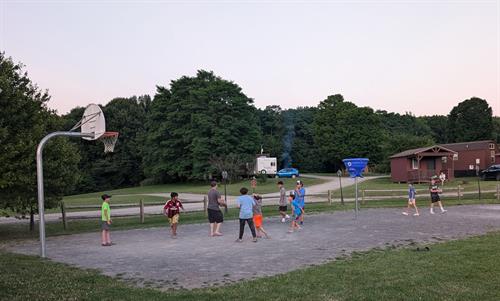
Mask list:
[[[37,211],[36,148],[62,120],[47,108],[50,96],[31,82],[21,64],[0,53],[0,208],[3,213]],[[44,151],[45,206],[57,205],[78,179],[77,150],[67,138],[52,139]]]

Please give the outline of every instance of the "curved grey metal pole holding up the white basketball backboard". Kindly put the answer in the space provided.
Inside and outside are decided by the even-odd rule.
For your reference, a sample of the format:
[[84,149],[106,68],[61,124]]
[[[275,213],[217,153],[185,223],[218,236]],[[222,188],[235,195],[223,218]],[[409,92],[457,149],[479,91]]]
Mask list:
[[40,217],[40,256],[45,257],[45,197],[43,191],[43,148],[50,138],[56,136],[69,136],[69,137],[94,137],[94,134],[89,133],[75,133],[75,132],[54,132],[50,133],[38,144],[36,149],[36,180],[38,185],[38,216]]

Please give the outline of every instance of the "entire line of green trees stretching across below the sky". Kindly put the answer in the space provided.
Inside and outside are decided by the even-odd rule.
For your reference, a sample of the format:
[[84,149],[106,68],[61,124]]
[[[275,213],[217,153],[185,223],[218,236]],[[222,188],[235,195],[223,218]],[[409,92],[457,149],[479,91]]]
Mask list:
[[[50,96],[22,64],[0,53],[0,206],[36,211],[35,150],[52,131],[69,130],[84,107],[58,115]],[[65,194],[220,177],[253,170],[256,154],[278,158],[279,167],[336,172],[345,157],[368,157],[377,172],[388,157],[434,143],[500,138],[500,119],[488,103],[470,98],[450,113],[417,117],[359,107],[340,94],[315,107],[256,108],[241,87],[200,70],[154,96],[115,98],[102,106],[106,129],[120,132],[115,153],[96,141],[59,138],[44,154],[47,207]]]

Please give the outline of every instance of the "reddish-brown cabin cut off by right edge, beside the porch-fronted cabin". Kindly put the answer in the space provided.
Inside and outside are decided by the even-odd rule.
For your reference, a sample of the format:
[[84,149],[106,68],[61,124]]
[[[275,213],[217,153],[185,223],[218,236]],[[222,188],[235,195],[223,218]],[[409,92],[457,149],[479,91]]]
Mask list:
[[470,141],[440,144],[457,152],[455,161],[455,177],[475,176],[480,170],[493,164],[500,164],[500,151],[493,140]]

